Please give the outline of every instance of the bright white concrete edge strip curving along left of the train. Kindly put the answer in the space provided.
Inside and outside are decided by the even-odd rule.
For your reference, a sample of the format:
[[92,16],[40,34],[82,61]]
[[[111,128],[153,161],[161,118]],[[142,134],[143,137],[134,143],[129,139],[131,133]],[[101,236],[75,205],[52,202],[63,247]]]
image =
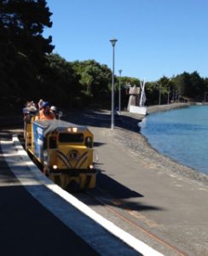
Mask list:
[[[105,230],[110,232],[113,236],[118,237],[119,240],[124,241],[128,246],[134,248],[136,252],[142,253],[142,255],[155,255],[162,256],[163,254],[157,252],[152,247],[147,246],[142,241],[139,241],[134,236],[131,236],[129,233],[125,232],[118,228],[115,224],[108,221],[106,218],[103,218],[100,214],[96,213],[90,207],[84,205],[83,202],[78,201],[73,195],[66,192],[64,189],[61,189],[58,185],[49,180],[48,177],[45,177],[42,172],[38,170],[38,167],[35,166],[32,161],[29,159],[26,151],[22,148],[17,135],[13,136],[14,147],[16,148],[20,158],[26,162],[29,162],[28,168],[31,170],[34,177],[38,180],[39,183],[43,184],[46,188],[54,192],[56,195],[61,196],[65,201],[71,204],[73,207],[77,208],[78,211],[83,212],[84,215],[88,216],[90,219],[95,221],[95,223],[101,225]],[[100,252],[99,252],[100,253]]]

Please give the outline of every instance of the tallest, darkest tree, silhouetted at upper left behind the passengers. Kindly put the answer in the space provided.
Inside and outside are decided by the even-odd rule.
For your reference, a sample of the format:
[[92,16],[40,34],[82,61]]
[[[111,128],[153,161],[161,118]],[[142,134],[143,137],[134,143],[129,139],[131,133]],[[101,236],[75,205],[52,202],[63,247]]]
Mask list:
[[45,0],[0,0],[0,74],[11,102],[36,95],[46,55],[54,49],[52,38],[42,36],[52,26],[50,15]]

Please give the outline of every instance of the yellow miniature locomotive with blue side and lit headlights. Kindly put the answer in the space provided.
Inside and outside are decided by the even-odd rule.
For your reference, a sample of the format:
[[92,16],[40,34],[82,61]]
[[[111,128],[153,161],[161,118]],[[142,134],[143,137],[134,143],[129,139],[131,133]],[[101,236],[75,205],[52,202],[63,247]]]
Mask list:
[[33,121],[32,143],[26,149],[63,189],[95,188],[93,134],[86,126],[58,119]]

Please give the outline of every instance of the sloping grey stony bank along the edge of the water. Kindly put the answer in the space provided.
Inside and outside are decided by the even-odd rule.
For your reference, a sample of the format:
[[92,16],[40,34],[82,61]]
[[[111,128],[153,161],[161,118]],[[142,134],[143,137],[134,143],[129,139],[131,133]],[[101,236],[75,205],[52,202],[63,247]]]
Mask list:
[[[147,108],[147,113],[166,111],[174,108],[186,108],[189,105],[190,104],[188,103],[176,103],[170,105],[151,106]],[[122,113],[121,119],[126,119],[126,116],[134,120],[134,125],[136,125],[136,122],[142,122],[142,119],[145,118],[145,116],[138,115],[135,113]],[[129,125],[131,129],[132,124]],[[140,158],[140,160],[145,162],[147,165],[152,166],[152,168],[153,166],[156,166],[157,169],[160,169],[163,172],[168,172],[170,175],[188,177],[188,179],[191,179],[195,182],[203,183],[206,186],[208,186],[208,176],[205,173],[199,172],[198,170],[195,170],[192,167],[184,166],[177,162],[176,160],[171,159],[169,156],[160,153],[157,149],[153,148],[150,143],[148,143],[147,138],[144,137],[142,133],[139,131],[139,127],[137,131],[135,127],[135,132],[137,133],[137,136],[135,135],[135,132],[128,131],[127,129],[128,122],[125,121],[124,129],[119,129],[120,134],[114,134],[113,137],[115,137],[117,143],[124,144],[125,147],[129,148],[131,152],[136,154]],[[130,132],[132,132],[132,134],[129,134],[129,136],[127,136],[128,139],[124,140],[124,137],[126,136],[124,135],[124,133],[127,134]]]

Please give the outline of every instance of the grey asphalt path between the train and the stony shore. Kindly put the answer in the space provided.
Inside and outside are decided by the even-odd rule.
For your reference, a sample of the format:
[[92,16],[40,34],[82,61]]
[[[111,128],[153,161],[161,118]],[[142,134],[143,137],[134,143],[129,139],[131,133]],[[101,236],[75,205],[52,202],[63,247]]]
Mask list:
[[[90,125],[94,132],[101,171],[98,187],[129,203],[145,230],[178,249],[174,255],[208,255],[207,186],[171,173],[168,168],[160,169],[151,157],[149,162],[144,161],[128,148],[129,137],[136,140],[134,118],[116,118],[113,131],[107,112],[69,114],[66,119]],[[127,127],[124,123],[128,122],[131,125]],[[115,195],[116,185],[123,189]],[[122,190],[131,194],[124,195]]]

